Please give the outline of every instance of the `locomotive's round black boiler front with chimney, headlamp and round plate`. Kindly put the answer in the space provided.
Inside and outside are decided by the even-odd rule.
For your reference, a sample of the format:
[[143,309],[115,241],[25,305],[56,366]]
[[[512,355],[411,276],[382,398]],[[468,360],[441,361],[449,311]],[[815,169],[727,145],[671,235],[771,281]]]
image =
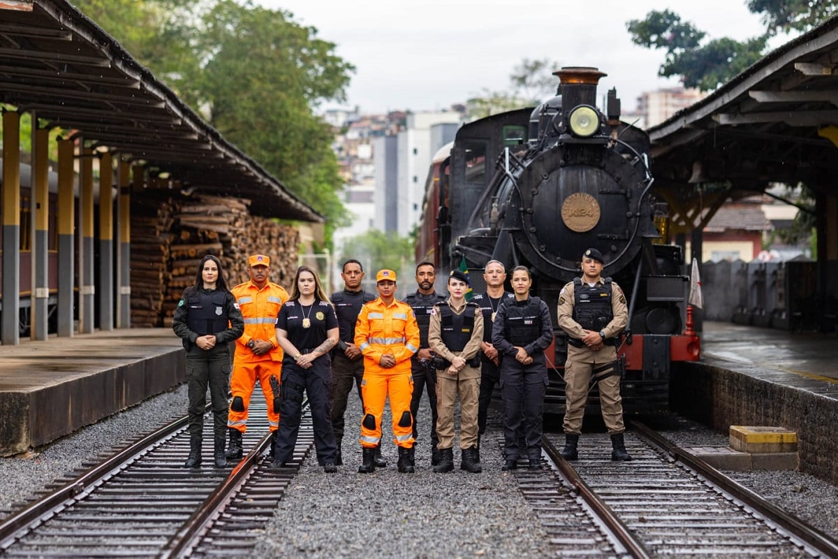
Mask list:
[[499,199],[509,200],[504,230],[547,277],[566,281],[576,275],[589,247],[603,253],[603,275],[616,275],[634,261],[643,239],[659,235],[649,199],[645,135],[636,129],[627,134],[641,145],[620,137],[625,125],[615,92],[609,92],[607,115],[595,108],[603,73],[563,68],[556,75],[561,109],[556,111],[553,100],[545,105],[536,145],[500,189]]

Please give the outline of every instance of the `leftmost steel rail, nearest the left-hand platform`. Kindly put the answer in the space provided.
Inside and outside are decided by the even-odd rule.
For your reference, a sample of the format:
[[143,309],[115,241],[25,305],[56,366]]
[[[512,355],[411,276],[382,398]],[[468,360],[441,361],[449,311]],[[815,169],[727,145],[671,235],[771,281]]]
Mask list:
[[[207,409],[209,409],[209,406]],[[44,495],[43,498],[28,505],[18,513],[9,516],[3,522],[0,522],[0,549],[8,548],[8,546],[17,540],[19,538],[19,531],[26,530],[27,528],[30,530],[33,529],[39,524],[39,520],[46,520],[56,510],[64,508],[67,503],[73,501],[76,495],[83,493],[107,475],[122,468],[133,458],[147,453],[152,445],[163,441],[173,435],[174,432],[178,432],[180,429],[186,427],[187,422],[188,417],[184,416],[160,427],[158,430],[142,437],[137,442],[129,444],[126,448],[122,448],[122,450],[107,458],[104,462],[88,469],[85,473],[71,480],[63,487],[56,489],[48,495]]]

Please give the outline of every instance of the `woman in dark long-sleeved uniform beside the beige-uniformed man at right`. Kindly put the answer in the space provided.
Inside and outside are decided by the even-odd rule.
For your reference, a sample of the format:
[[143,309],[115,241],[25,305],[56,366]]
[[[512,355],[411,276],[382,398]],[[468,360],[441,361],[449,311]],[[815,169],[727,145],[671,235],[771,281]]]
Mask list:
[[[503,355],[500,395],[504,401],[504,470],[518,467],[526,453],[530,469],[541,467],[541,422],[547,389],[544,350],[553,341],[553,323],[547,303],[530,297],[532,278],[523,266],[512,270],[515,301],[498,308],[492,326],[492,344]],[[526,448],[519,448],[523,430]]]

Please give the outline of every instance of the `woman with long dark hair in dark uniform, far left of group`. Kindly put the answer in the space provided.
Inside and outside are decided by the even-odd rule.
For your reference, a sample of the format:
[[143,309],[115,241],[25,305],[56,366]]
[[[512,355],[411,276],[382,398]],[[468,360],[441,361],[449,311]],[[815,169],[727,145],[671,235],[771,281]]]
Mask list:
[[189,458],[184,466],[201,463],[204,407],[207,386],[212,399],[214,458],[218,468],[227,465],[224,443],[227,432],[227,394],[230,392],[230,348],[227,343],[245,331],[245,321],[227,288],[221,263],[207,255],[198,265],[194,286],[174,311],[172,328],[184,339],[186,380],[189,383]]

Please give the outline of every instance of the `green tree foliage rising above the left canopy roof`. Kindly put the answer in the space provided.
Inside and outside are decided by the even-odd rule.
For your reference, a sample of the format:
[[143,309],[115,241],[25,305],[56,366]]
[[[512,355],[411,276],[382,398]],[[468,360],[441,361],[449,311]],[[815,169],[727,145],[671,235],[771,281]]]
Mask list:
[[334,135],[313,112],[344,101],[354,66],[290,13],[233,0],[77,0],[210,125],[326,217],[348,216]]

